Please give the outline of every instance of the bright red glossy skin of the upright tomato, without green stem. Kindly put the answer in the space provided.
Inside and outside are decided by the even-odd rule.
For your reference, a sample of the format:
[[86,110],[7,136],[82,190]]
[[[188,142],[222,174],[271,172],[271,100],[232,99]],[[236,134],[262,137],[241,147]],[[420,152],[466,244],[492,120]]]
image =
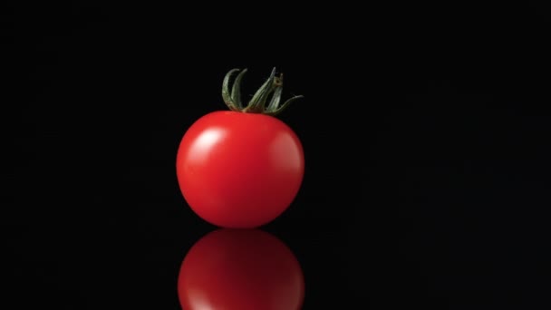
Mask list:
[[179,189],[189,207],[223,228],[256,228],[280,216],[304,177],[304,152],[283,121],[214,111],[193,123],[178,150]]

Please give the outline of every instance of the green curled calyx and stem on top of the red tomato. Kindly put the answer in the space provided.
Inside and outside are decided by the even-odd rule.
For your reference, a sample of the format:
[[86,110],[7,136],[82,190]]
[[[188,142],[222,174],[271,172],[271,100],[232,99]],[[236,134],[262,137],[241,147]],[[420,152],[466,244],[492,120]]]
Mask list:
[[[294,96],[289,98],[283,104],[281,102],[281,94],[283,92],[283,73],[280,73],[279,76],[275,76],[275,68],[272,70],[270,77],[260,86],[260,88],[253,95],[253,98],[247,103],[247,106],[244,106],[241,102],[241,80],[243,75],[247,73],[247,69],[230,70],[226,77],[224,77],[224,82],[222,82],[222,98],[226,102],[227,107],[231,111],[240,111],[244,113],[262,113],[266,115],[275,116],[281,111],[284,111],[286,107],[289,106],[291,102],[302,98],[303,96]],[[229,80],[237,73],[237,77],[234,80],[233,86],[230,85]],[[269,102],[268,102],[269,99]]]

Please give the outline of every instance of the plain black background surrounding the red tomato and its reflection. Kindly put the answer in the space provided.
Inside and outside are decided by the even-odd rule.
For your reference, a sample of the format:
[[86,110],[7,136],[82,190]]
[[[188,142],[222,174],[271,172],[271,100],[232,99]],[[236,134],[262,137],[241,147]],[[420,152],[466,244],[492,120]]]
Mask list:
[[9,308],[178,309],[215,229],[179,140],[227,71],[274,66],[307,166],[264,229],[305,309],[546,308],[549,5],[272,5],[3,5]]

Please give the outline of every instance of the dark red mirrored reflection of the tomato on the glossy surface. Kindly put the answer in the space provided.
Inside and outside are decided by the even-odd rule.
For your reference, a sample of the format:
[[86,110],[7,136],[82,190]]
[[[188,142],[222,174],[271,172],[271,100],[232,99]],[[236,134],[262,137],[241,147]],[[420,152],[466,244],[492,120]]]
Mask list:
[[222,228],[189,249],[178,295],[184,310],[299,310],[304,275],[293,252],[273,235]]

